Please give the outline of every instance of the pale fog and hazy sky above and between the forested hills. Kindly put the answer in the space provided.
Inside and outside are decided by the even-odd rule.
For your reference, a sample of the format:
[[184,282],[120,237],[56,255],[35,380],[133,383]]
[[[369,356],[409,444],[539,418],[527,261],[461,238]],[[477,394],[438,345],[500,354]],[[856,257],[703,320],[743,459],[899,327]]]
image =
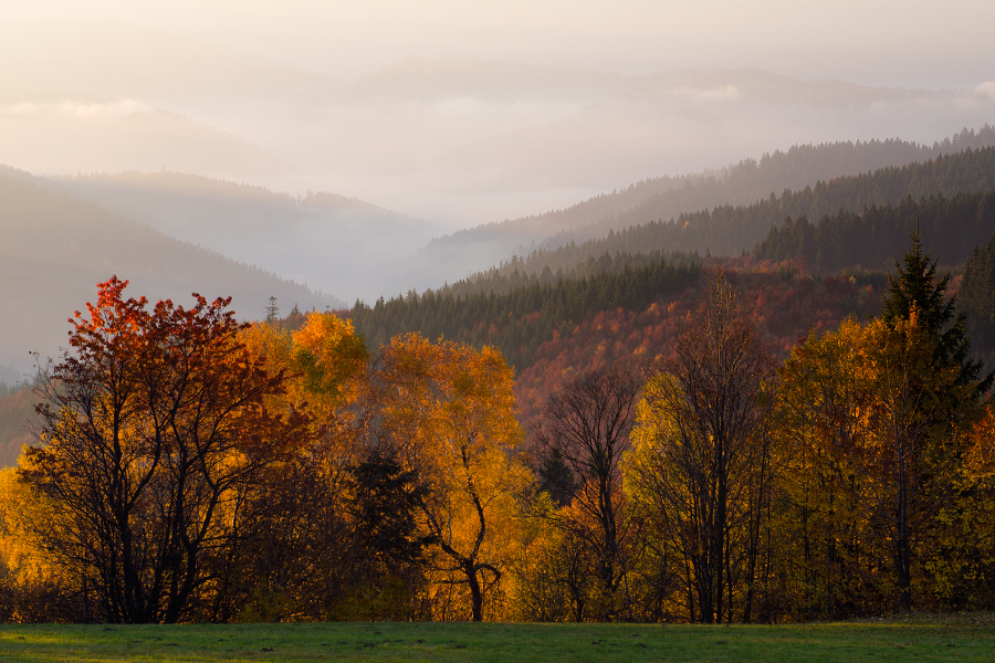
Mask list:
[[995,123],[992,24],[995,3],[963,0],[15,2],[0,25],[0,164],[368,201],[396,213],[338,234],[287,227],[285,242],[279,218],[253,234],[147,201],[132,212],[371,299],[432,285],[390,265],[459,229],[796,144],[932,143]]

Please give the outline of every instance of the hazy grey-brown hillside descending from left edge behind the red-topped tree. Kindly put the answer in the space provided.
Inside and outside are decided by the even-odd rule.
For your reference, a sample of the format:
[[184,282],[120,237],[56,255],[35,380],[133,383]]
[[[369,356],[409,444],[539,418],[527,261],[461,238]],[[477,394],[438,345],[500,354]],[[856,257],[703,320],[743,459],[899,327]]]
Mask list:
[[0,173],[0,366],[18,373],[33,366],[29,351],[55,356],[65,343],[66,318],[96,295],[112,274],[129,292],[188,304],[191,292],[233,297],[240,317],[259,318],[269,297],[286,306],[339,306],[258,267],[164,235],[156,230],[38,185]]

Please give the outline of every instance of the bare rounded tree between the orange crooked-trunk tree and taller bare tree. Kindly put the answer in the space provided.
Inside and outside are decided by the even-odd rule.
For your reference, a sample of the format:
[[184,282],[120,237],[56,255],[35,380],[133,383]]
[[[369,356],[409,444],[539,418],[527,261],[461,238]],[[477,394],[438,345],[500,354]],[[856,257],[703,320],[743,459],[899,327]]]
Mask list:
[[[551,494],[565,506],[546,509],[542,516],[566,532],[568,539],[583,541],[593,555],[598,580],[594,603],[601,619],[616,611],[616,592],[635,528],[624,515],[619,461],[629,448],[638,394],[639,380],[630,364],[589,371],[549,399],[537,432],[547,466],[558,461],[569,470],[544,472]],[[578,610],[577,621],[582,617]]]

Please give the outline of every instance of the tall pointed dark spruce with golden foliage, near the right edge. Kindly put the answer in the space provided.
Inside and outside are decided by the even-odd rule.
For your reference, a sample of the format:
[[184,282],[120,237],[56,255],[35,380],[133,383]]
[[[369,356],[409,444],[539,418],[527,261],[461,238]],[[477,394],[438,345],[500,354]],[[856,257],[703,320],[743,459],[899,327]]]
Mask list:
[[936,275],[918,231],[896,267],[881,317],[868,327],[867,351],[877,378],[876,465],[888,472],[890,497],[877,515],[890,525],[899,604],[908,611],[915,544],[952,494],[964,431],[993,376],[978,379],[982,364],[971,358],[964,314],[946,296],[950,276]]

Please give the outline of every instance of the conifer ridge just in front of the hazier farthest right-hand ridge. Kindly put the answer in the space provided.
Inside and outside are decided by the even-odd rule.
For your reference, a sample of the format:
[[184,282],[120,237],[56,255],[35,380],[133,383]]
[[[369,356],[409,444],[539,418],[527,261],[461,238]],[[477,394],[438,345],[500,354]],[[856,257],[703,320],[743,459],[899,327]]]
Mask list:
[[[995,129],[986,130],[995,134]],[[555,273],[605,253],[667,251],[739,255],[751,251],[772,227],[779,227],[788,217],[821,219],[840,211],[860,213],[872,206],[897,204],[910,196],[914,200],[936,194],[952,197],[961,191],[977,192],[992,187],[995,187],[995,147],[966,149],[920,164],[817,181],[814,187],[806,186],[798,191],[785,190],[781,196],[771,193],[752,204],[722,204],[711,210],[702,209],[702,206],[701,211],[650,222],[646,222],[643,215],[632,219],[624,230],[608,230],[607,236],[579,244],[570,242],[555,249],[536,249],[525,257],[513,257],[465,282],[483,291],[496,276],[507,276],[515,270],[540,274],[549,267]],[[970,252],[973,246],[973,243],[960,246],[959,253]]]

